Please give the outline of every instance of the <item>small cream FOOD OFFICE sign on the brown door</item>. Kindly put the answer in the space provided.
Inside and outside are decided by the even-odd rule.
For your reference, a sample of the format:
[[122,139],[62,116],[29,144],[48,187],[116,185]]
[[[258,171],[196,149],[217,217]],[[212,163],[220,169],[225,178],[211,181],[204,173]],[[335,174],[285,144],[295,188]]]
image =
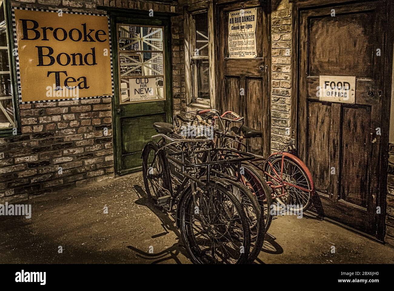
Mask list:
[[319,100],[356,103],[356,77],[319,76]]

